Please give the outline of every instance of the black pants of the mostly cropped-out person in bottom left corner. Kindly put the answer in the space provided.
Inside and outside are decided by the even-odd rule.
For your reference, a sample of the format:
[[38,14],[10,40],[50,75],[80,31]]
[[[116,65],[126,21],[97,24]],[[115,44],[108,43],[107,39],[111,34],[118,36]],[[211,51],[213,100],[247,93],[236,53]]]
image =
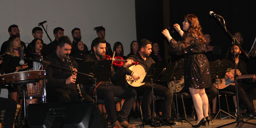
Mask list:
[[16,109],[17,109],[17,103],[15,100],[0,97],[0,110],[5,110],[5,113],[3,116],[3,124],[2,124],[3,127],[5,128],[13,127]]

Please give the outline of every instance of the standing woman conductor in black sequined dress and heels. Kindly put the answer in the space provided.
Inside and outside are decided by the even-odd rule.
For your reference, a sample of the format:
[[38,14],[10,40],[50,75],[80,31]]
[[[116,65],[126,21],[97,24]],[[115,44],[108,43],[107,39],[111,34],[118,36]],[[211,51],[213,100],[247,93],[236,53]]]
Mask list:
[[162,33],[170,42],[169,51],[172,54],[184,54],[184,82],[185,88],[189,88],[192,95],[195,110],[198,115],[197,125],[200,127],[207,121],[208,116],[208,98],[205,94],[205,88],[211,86],[211,76],[209,62],[204,53],[206,53],[205,37],[202,34],[201,26],[195,15],[189,14],[184,17],[183,30],[179,24],[173,27],[182,36],[180,42],[176,42],[167,29]]

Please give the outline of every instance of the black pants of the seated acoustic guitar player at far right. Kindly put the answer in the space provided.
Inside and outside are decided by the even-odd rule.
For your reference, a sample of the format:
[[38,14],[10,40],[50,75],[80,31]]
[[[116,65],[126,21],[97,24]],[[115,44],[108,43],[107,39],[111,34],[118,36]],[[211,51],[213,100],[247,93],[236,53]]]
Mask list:
[[[237,89],[238,89],[238,92],[237,92],[238,97],[242,101],[240,109],[245,110],[246,107],[247,107],[249,112],[254,111],[255,108],[252,106],[251,102],[256,97],[256,86],[253,86],[253,85],[240,86],[240,84],[238,84]],[[236,86],[235,85],[229,85],[226,88],[223,88],[221,90],[236,93]],[[248,96],[246,96],[245,93],[249,93]]]

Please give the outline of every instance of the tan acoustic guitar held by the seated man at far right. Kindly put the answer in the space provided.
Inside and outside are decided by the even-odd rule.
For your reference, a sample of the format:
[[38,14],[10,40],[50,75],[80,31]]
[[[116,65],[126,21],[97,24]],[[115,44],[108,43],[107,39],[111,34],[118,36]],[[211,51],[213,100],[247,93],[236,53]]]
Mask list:
[[[234,69],[232,69],[229,73],[234,74]],[[243,79],[243,78],[252,78],[254,75],[256,74],[247,74],[247,75],[241,75],[241,72],[237,69],[237,79]],[[229,79],[226,75],[225,78],[223,79],[218,79],[218,83],[219,83],[219,89],[223,89],[226,88],[229,85],[235,85],[235,81],[234,81],[234,77],[232,79]],[[213,86],[215,88],[218,88],[217,83],[213,83]]]

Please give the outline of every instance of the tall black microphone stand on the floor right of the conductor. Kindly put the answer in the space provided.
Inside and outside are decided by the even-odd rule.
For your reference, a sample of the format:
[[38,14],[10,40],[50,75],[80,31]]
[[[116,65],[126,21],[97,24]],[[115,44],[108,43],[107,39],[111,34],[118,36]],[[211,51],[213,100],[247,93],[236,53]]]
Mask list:
[[[219,19],[219,17],[221,17],[220,15],[214,15],[217,19],[217,21],[223,26],[223,28],[225,29],[225,31],[227,32],[227,35],[233,40],[232,41],[232,45],[233,45],[233,49],[235,50],[235,45],[237,45],[240,50],[243,52],[243,54],[246,56],[247,59],[249,59],[249,56],[243,51],[243,49],[240,47],[239,45],[239,42],[237,41],[236,38],[234,38],[230,33],[229,31],[227,31],[227,28],[226,26],[223,25],[223,23],[221,22],[221,20]],[[221,17],[223,19],[223,17]],[[224,20],[224,19],[223,19]],[[225,24],[225,21],[224,21],[224,24]],[[234,51],[233,51],[234,52]],[[237,71],[236,71],[236,67],[237,67],[237,64],[236,64],[236,61],[235,61],[235,52],[234,52],[234,65],[235,65],[235,71],[234,71],[234,82],[235,82],[235,86],[236,86],[236,95],[237,95],[237,103],[239,103],[239,99],[238,99],[238,90],[237,90]],[[219,126],[219,127],[216,127],[216,128],[220,128],[220,127],[224,127],[224,126],[227,126],[227,125],[231,125],[231,124],[234,124],[234,123],[237,123],[236,127],[239,126],[239,128],[241,128],[241,123],[248,123],[248,124],[251,124],[251,125],[256,125],[254,123],[250,123],[250,122],[243,122],[243,117],[242,115],[240,115],[240,107],[239,107],[239,104],[237,104],[237,111],[238,111],[238,116],[237,116],[237,120],[234,121],[234,122],[231,122],[231,123],[228,123],[226,125],[222,125],[222,126]]]

